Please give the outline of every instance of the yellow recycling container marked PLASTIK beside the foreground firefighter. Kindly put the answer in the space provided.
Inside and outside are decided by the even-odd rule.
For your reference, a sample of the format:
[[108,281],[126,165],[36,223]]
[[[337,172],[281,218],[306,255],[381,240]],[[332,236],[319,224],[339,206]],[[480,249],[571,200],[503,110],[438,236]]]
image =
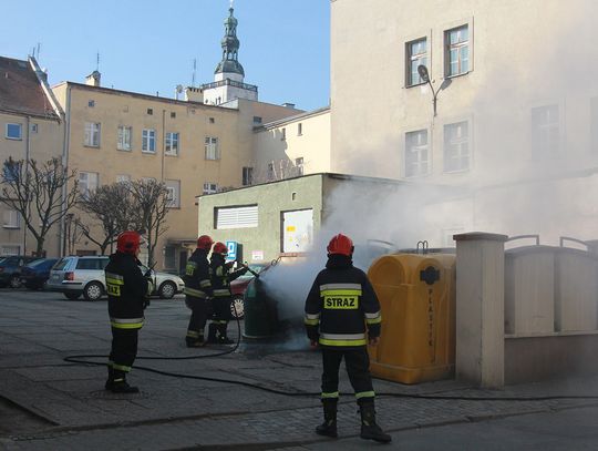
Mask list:
[[402,383],[446,379],[455,370],[455,256],[396,254],[368,270],[382,335],[370,346],[373,376]]

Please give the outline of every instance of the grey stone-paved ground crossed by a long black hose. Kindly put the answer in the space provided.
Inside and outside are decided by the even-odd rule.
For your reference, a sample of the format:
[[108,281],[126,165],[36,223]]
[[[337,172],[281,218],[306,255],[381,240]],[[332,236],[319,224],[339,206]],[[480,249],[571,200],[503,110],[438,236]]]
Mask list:
[[[103,389],[104,367],[63,360],[72,355],[93,355],[100,357],[90,361],[105,362],[103,356],[110,348],[105,300],[71,301],[60,294],[0,290],[0,310],[3,449],[257,450],[310,443],[334,447],[312,432],[321,421],[316,394],[320,357],[307,348],[302,336],[275,344],[241,344],[233,353],[212,358],[140,358],[130,381],[138,385],[142,392],[113,394]],[[153,300],[146,317],[140,335],[141,357],[195,357],[227,349],[189,350],[184,346],[188,310],[182,297]],[[235,338],[235,325],[230,325],[230,330]],[[596,406],[598,400],[591,398],[489,399],[598,393],[592,388],[596,382],[571,378],[501,391],[477,390],[454,380],[417,386],[375,380],[374,387],[379,393],[379,422],[388,431],[406,433],[421,428]],[[344,375],[341,390],[351,392]],[[439,397],[488,399],[434,399]],[[351,394],[341,398],[339,434],[349,440],[359,434]]]

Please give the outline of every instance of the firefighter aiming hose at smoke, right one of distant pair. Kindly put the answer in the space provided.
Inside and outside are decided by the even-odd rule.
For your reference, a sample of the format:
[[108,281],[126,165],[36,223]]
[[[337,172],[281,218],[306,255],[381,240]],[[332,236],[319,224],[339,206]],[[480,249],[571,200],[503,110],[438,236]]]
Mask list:
[[210,344],[231,345],[234,341],[228,338],[228,319],[230,318],[230,305],[233,294],[230,293],[230,281],[247,273],[247,266],[230,271],[233,262],[226,263],[228,248],[224,243],[216,243],[212,252],[209,271],[212,287],[214,288],[214,299],[212,301],[214,316],[208,326],[207,341]]

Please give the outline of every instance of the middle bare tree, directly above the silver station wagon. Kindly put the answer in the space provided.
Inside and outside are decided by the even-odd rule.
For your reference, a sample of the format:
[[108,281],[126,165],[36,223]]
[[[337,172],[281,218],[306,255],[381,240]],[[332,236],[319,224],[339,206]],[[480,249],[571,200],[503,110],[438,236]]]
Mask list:
[[127,230],[136,221],[132,192],[124,183],[103,185],[91,193],[81,194],[78,206],[100,223],[103,234],[102,238],[96,238],[91,224],[83,222],[81,217],[75,218],[82,234],[100,247],[102,255],[116,240],[118,234]]

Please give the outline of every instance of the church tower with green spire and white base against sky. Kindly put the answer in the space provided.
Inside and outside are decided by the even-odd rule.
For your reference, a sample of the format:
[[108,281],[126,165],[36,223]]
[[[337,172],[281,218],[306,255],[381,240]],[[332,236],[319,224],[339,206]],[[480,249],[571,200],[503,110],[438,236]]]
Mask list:
[[202,85],[204,103],[219,105],[235,99],[258,100],[258,89],[252,84],[244,83],[245,71],[238,61],[239,40],[237,38],[238,21],[234,16],[233,0],[230,0],[229,16],[225,19],[225,35],[220,42],[223,60],[214,71],[214,83]]

